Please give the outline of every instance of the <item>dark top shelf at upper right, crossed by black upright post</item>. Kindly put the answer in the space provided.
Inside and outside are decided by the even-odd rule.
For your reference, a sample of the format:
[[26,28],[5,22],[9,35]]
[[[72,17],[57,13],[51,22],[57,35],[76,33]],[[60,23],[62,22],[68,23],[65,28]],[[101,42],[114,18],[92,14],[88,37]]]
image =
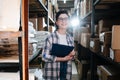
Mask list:
[[[111,2],[112,1],[112,2]],[[95,23],[100,19],[118,19],[120,18],[120,0],[96,0],[95,6]],[[88,12],[84,17],[81,18],[83,24],[91,23],[92,11]]]

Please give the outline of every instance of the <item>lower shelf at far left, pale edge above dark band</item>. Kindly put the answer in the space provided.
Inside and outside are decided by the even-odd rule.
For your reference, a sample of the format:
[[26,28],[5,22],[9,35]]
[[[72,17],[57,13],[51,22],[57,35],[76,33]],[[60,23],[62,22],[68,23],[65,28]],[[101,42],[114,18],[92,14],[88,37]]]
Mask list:
[[18,55],[4,55],[0,56],[0,70],[16,72],[19,70]]

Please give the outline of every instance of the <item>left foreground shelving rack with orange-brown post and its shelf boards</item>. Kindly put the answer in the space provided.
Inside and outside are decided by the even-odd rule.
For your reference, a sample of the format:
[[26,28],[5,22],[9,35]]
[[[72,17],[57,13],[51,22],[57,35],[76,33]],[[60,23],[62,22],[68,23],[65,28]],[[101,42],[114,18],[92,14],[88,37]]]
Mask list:
[[[0,39],[3,38],[18,38],[19,55],[16,62],[0,62],[0,68],[9,71],[20,71],[20,80],[28,79],[28,0],[21,0],[20,11],[20,30],[19,31],[0,31]],[[7,67],[7,68],[5,68]],[[12,69],[11,69],[12,68]]]

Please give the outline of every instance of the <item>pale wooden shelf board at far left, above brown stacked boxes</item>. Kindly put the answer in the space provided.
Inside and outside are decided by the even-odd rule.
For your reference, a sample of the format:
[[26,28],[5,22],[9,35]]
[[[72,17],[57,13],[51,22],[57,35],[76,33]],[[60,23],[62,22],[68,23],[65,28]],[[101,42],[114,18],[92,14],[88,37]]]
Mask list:
[[0,39],[2,38],[17,38],[17,37],[21,37],[22,36],[22,32],[17,31],[0,31]]

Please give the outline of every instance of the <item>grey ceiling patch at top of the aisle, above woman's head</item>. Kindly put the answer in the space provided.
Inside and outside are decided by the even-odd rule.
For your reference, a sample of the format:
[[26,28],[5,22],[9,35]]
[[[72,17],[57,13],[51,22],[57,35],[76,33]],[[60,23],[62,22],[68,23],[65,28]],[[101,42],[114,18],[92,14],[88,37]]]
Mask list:
[[64,0],[57,0],[58,9],[71,10],[71,8],[74,8],[74,1],[75,0],[66,0],[66,3],[64,3]]

